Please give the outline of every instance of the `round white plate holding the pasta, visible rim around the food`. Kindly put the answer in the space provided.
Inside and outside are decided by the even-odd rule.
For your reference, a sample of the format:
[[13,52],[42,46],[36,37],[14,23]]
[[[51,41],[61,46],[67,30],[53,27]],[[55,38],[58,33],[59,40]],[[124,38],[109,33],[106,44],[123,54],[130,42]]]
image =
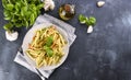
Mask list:
[[[25,54],[25,50],[27,50],[28,48],[28,44],[32,42],[33,39],[33,36],[35,35],[35,32],[39,28],[44,28],[44,27],[48,27],[50,25],[55,25],[55,24],[51,24],[51,23],[43,23],[43,24],[38,24],[36,26],[33,26],[25,35],[24,37],[24,41],[23,41],[23,44],[22,44],[22,48],[23,48],[23,52],[24,52],[24,57],[25,59],[28,61],[29,65],[32,65],[33,67],[36,68],[36,64],[35,61],[33,61],[26,54]],[[67,58],[68,54],[69,54],[69,41],[68,41],[68,35],[67,33],[60,28],[59,26],[55,25],[57,27],[57,30],[60,32],[60,34],[64,37],[64,39],[68,42],[68,44],[64,46],[63,48],[63,53],[64,53],[64,56],[61,58],[60,62],[58,65],[52,65],[52,66],[46,66],[46,67],[40,67],[39,69],[43,69],[43,70],[50,70],[50,69],[55,69],[57,67],[59,67]]]

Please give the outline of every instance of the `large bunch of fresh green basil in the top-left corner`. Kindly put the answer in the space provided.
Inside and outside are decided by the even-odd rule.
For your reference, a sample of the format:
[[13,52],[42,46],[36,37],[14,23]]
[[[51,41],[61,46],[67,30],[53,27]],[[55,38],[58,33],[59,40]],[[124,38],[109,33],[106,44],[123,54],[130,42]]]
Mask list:
[[3,28],[11,31],[13,27],[32,26],[44,3],[40,0],[2,0],[2,5],[4,20],[9,21]]

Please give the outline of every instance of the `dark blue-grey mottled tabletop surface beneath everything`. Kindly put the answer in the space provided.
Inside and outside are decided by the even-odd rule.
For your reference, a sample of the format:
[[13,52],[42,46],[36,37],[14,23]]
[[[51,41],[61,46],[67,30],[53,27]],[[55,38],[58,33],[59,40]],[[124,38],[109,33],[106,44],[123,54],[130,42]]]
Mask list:
[[[63,3],[75,4],[76,14],[67,23],[76,31],[76,39],[69,56],[49,80],[131,80],[131,0],[105,0],[97,8],[98,0],[55,0],[56,8],[48,14],[58,15]],[[26,68],[13,61],[27,30],[19,30],[15,42],[5,39],[3,8],[0,0],[0,80],[40,80]],[[81,25],[78,15],[94,15],[97,24],[92,34],[86,34],[86,25]]]

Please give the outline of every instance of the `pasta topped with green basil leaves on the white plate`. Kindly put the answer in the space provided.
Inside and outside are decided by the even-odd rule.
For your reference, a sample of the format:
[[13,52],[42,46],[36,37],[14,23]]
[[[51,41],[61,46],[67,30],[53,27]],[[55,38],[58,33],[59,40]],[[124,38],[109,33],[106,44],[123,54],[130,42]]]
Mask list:
[[64,55],[63,48],[66,45],[64,37],[55,25],[51,25],[36,31],[28,44],[26,55],[35,61],[37,68],[52,66],[59,64]]

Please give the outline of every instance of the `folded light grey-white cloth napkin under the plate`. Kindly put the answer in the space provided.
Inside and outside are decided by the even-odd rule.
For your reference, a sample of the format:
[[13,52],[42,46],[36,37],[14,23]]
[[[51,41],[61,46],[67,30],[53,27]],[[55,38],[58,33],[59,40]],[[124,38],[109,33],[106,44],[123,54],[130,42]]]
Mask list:
[[[74,39],[76,38],[76,35],[74,34],[75,32],[75,28],[67,23],[64,23],[63,21],[60,21],[51,15],[48,15],[48,14],[44,14],[44,15],[39,15],[37,19],[36,19],[36,22],[33,26],[37,25],[37,24],[41,24],[41,23],[45,23],[45,22],[49,22],[49,23],[52,23],[52,24],[56,24],[58,26],[60,26],[63,31],[67,32],[68,34],[68,39],[69,39],[69,46],[72,45],[72,43],[74,42]],[[24,66],[25,68],[29,69],[31,71],[35,72],[38,75],[37,70],[32,67],[27,61],[26,59],[23,57],[23,55],[21,55],[19,52],[14,58],[14,61]],[[52,73],[53,70],[39,70],[40,73],[45,77],[45,78],[49,78],[49,76]]]

